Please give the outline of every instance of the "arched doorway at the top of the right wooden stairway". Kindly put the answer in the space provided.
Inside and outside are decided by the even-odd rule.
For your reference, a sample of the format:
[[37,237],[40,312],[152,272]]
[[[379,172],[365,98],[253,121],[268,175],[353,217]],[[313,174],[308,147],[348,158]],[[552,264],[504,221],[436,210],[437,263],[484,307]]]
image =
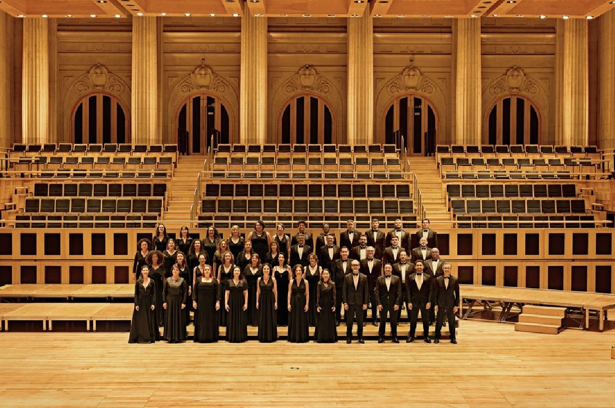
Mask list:
[[397,143],[396,136],[403,136],[408,155],[433,152],[437,131],[434,104],[423,96],[398,96],[384,112],[383,143]]

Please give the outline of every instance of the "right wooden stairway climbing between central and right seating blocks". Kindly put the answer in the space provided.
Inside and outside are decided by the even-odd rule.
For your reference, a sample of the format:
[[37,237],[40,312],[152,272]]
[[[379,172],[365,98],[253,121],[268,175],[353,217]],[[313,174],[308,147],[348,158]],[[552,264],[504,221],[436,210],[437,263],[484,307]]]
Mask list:
[[[435,157],[407,157],[406,160],[409,171],[416,175],[425,213],[432,223],[432,228],[451,228],[451,213],[448,211],[445,187]],[[415,203],[418,205],[418,202]]]

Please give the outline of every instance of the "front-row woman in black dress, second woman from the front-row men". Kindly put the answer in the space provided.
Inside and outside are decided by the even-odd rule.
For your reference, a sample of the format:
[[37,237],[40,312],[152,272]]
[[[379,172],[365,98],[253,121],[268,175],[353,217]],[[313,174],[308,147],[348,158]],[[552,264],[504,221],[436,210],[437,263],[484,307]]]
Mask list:
[[293,275],[293,280],[288,284],[288,341],[306,343],[309,341],[309,283],[303,278],[301,265],[293,267]]

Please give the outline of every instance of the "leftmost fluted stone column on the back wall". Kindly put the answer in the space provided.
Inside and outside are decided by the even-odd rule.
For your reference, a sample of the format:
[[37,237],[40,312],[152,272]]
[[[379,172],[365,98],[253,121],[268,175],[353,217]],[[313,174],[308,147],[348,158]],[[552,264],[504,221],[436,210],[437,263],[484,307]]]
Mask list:
[[23,19],[22,142],[49,140],[49,24],[47,18]]

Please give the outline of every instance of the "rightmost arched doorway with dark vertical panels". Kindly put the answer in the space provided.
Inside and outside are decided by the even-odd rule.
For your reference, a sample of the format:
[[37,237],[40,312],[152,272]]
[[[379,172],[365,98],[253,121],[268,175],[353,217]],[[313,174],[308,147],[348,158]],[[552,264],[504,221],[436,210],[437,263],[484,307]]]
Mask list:
[[488,144],[539,144],[540,115],[536,104],[520,95],[507,95],[489,109],[483,142]]

